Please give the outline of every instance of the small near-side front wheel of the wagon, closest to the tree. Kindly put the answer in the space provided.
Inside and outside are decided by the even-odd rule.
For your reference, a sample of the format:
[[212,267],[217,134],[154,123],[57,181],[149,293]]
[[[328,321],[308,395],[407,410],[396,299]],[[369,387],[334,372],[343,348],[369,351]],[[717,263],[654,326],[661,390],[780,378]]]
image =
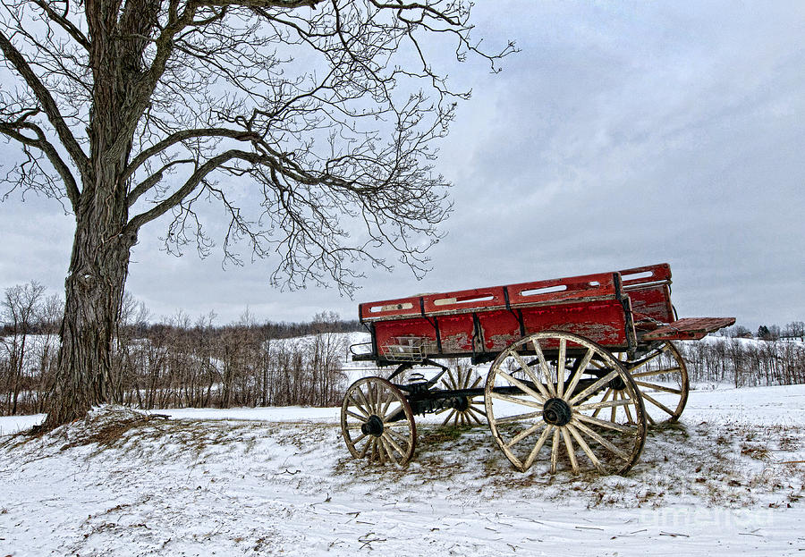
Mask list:
[[402,466],[413,456],[417,426],[405,395],[382,377],[364,377],[341,405],[343,440],[356,459]]

